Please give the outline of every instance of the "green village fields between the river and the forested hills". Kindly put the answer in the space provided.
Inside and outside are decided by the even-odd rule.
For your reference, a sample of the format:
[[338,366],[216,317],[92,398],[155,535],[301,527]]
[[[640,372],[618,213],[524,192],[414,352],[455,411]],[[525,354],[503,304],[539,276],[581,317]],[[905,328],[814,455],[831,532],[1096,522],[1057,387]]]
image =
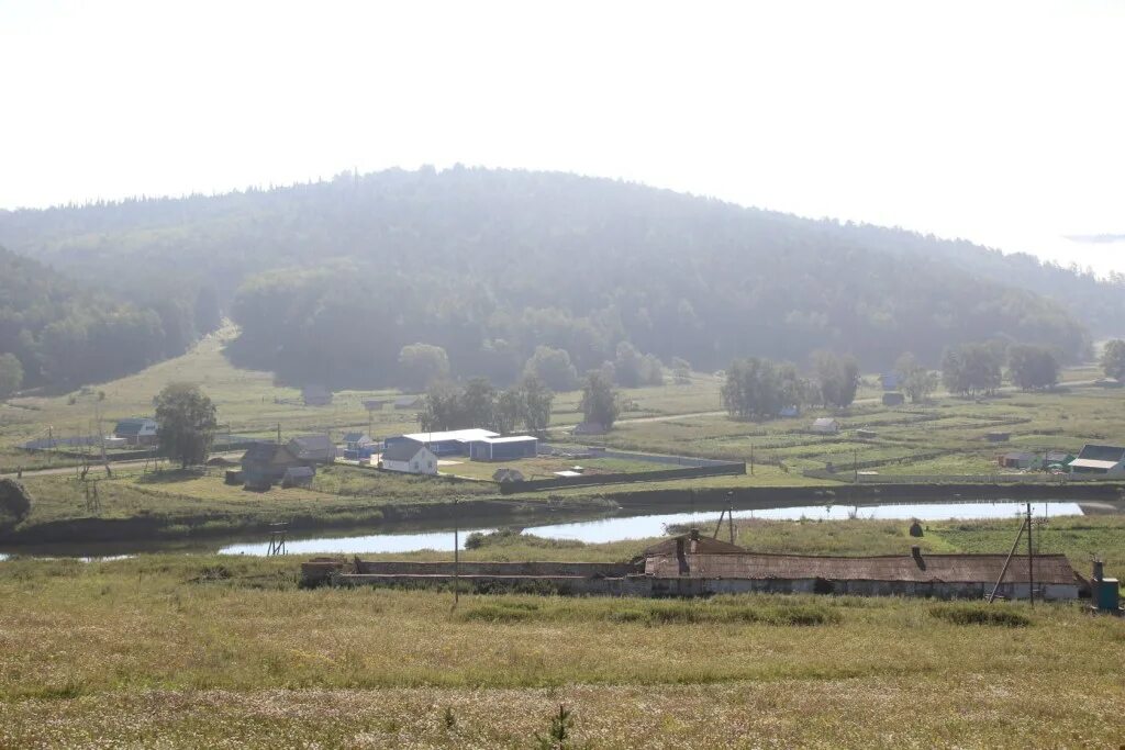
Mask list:
[[[96,432],[100,417],[108,430],[117,418],[151,413],[152,397],[168,382],[198,382],[218,406],[224,432],[270,437],[280,426],[284,439],[303,433],[328,432],[340,437],[346,430],[368,430],[376,436],[416,428],[413,412],[395,410],[388,404],[368,415],[362,400],[392,398],[392,391],[344,391],[327,407],[305,407],[298,391],[278,387],[264,372],[238,370],[223,355],[223,346],[234,335],[224,329],[200,342],[188,354],[169,360],[118,381],[83,388],[54,397],[25,397],[0,405],[0,472],[24,467],[43,468],[48,457],[18,450],[16,445],[40,436],[51,426],[55,435]],[[1091,365],[1064,371],[1071,383],[1052,392],[1006,390],[994,398],[966,400],[938,395],[924,405],[884,407],[872,377],[864,380],[857,401],[836,413],[843,430],[837,435],[816,435],[809,425],[827,412],[810,409],[799,418],[764,423],[730,419],[720,409],[721,380],[696,373],[690,385],[669,385],[624,391],[636,407],[622,414],[605,436],[583,439],[582,444],[601,444],[619,450],[720,458],[747,461],[752,472],[739,477],[650,481],[644,490],[682,488],[738,488],[750,486],[825,486],[853,478],[853,468],[875,471],[888,478],[926,476],[991,476],[999,472],[997,457],[1019,450],[1078,451],[1092,441],[1125,441],[1125,391],[1082,385],[1097,377]],[[566,425],[580,419],[578,394],[559,394],[551,417],[548,441],[572,444]],[[860,428],[874,432],[861,437]],[[1008,443],[989,443],[992,431],[1011,433]],[[60,457],[50,457],[53,466]],[[74,462],[74,460],[71,460]],[[657,464],[641,461],[593,459],[577,461],[592,473],[648,471]],[[472,479],[490,479],[502,467],[519,468],[528,477],[550,477],[569,468],[568,460],[533,459],[521,462],[478,463],[462,461],[442,467],[443,473]],[[829,464],[831,476],[822,471]],[[166,535],[236,531],[264,523],[299,517],[308,525],[377,522],[388,505],[451,503],[462,498],[498,497],[490,484],[449,484],[375,475],[358,469],[336,468],[322,472],[314,491],[274,489],[263,495],[227,487],[217,476],[196,477],[177,472],[140,476],[140,467],[119,467],[115,478],[99,484],[100,515],[105,518],[143,517],[160,519]],[[36,507],[25,525],[83,518],[84,489],[66,475],[25,477],[36,497]],[[1044,476],[1044,479],[1047,479]],[[558,498],[597,499],[608,493],[628,491],[584,487],[552,491]],[[515,496],[529,503],[543,497]],[[148,533],[147,531],[145,533]]]

